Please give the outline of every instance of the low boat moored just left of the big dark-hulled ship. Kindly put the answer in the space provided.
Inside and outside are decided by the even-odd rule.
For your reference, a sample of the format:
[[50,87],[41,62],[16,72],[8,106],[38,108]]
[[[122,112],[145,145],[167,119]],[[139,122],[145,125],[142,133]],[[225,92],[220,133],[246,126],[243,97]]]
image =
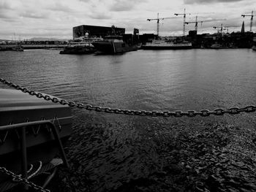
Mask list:
[[72,42],[67,47],[64,47],[60,54],[89,54],[95,51],[96,49],[90,42]]

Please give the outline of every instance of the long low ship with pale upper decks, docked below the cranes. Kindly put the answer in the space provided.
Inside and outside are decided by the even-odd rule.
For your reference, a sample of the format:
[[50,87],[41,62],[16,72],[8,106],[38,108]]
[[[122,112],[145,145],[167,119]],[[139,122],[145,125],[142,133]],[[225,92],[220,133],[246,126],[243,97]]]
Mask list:
[[142,45],[143,50],[186,50],[192,49],[191,42],[166,42],[163,40],[153,40],[152,42],[146,43],[146,45]]

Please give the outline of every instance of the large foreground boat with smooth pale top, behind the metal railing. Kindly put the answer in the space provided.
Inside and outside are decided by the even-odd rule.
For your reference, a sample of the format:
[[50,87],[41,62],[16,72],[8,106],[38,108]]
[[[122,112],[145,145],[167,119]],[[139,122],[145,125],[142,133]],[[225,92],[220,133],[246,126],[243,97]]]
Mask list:
[[[70,107],[0,88],[1,168],[28,180],[54,169],[42,180],[45,187],[59,164],[68,166],[62,143],[71,131]],[[58,151],[61,158],[56,158]],[[10,175],[0,172],[0,191],[18,184]]]

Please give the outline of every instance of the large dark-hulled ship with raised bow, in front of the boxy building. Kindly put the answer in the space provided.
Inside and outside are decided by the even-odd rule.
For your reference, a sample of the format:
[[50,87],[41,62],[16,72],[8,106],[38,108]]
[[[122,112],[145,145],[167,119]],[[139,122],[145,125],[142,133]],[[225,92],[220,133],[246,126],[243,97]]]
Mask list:
[[116,53],[125,53],[129,51],[138,50],[138,45],[129,45],[124,42],[122,36],[111,35],[104,37],[103,40],[92,42],[92,45],[100,53],[107,54],[116,54]]

